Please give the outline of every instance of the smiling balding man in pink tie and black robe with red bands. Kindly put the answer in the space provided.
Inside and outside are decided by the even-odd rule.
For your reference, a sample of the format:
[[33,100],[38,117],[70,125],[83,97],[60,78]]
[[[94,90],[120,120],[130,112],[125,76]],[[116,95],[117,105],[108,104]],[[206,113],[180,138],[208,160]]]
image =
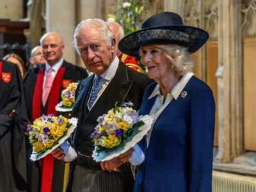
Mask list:
[[[24,79],[24,90],[28,118],[33,122],[42,115],[71,116],[70,113],[57,113],[55,106],[61,101],[61,92],[69,83],[88,77],[86,70],[72,65],[63,59],[64,44],[58,33],[46,33],[40,39],[44,65],[32,68]],[[39,166],[40,164],[40,166]],[[65,164],[55,161],[49,155],[31,164],[29,191],[63,191],[65,187]],[[67,171],[68,172],[68,171]],[[66,185],[67,186],[67,185]]]

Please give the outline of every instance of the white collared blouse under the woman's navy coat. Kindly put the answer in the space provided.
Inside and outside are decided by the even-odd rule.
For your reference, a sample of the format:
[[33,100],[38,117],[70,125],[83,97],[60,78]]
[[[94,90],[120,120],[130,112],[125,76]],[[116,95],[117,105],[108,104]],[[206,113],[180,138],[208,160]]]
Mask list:
[[153,117],[153,124],[152,124],[152,128],[147,133],[147,147],[149,145],[150,136],[152,134],[153,127],[156,124],[157,118],[159,117],[159,115],[161,115],[161,113],[168,106],[168,104],[170,104],[172,99],[177,100],[180,93],[182,92],[182,90],[184,89],[184,87],[186,86],[186,84],[188,83],[189,79],[192,76],[194,76],[193,72],[186,73],[180,79],[180,81],[177,84],[175,84],[175,86],[172,88],[172,91],[167,94],[165,101],[164,101],[164,96],[161,95],[161,89],[158,84],[157,84],[156,88],[154,89],[154,91],[152,92],[152,94],[148,97],[148,99],[152,99],[153,97],[157,96],[156,101],[149,113],[149,115]]

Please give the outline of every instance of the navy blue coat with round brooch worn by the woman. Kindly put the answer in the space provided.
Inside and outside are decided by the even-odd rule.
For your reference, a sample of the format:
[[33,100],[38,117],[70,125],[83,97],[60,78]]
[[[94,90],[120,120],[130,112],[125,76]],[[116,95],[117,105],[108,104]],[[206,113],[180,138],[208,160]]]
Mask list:
[[[140,114],[150,113],[157,83],[148,86]],[[138,167],[135,192],[211,192],[215,102],[212,90],[195,76],[154,125],[150,144],[139,143],[146,158]]]

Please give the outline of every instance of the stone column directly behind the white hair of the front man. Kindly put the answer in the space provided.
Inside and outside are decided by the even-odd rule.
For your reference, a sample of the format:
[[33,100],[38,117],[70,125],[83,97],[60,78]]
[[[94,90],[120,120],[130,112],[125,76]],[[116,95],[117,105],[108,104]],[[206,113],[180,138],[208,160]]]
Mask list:
[[[51,1],[51,0],[50,0]],[[84,19],[93,19],[93,18],[102,18],[101,9],[102,2],[104,0],[77,0],[76,4],[76,25],[79,24]],[[74,33],[74,31],[73,31]],[[77,64],[81,67],[84,67],[84,63],[81,60],[80,56],[76,54]]]

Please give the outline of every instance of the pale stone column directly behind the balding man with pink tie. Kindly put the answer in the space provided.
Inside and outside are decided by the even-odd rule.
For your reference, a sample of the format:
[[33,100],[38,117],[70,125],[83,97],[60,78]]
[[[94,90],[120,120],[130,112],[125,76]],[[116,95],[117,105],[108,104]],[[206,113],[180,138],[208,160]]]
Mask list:
[[60,33],[63,38],[65,44],[64,59],[76,64],[76,51],[72,47],[73,34],[76,28],[76,1],[47,0],[46,18],[46,31]]

